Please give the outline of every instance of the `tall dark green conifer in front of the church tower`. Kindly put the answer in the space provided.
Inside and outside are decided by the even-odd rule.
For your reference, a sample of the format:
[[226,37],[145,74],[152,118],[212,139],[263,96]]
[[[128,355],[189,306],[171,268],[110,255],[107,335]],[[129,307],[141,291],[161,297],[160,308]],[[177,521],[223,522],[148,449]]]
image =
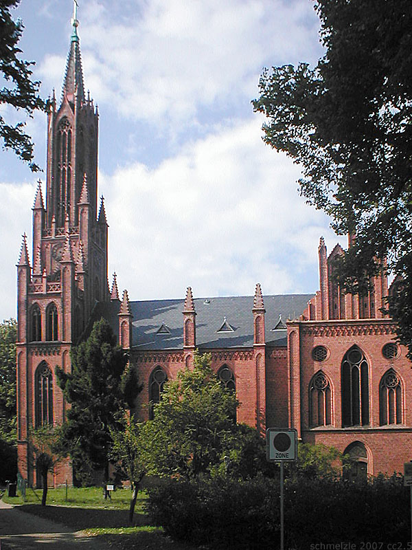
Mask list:
[[71,373],[56,369],[58,384],[71,404],[62,426],[62,447],[79,481],[89,483],[93,470],[103,468],[107,482],[110,429],[121,428],[122,411],[133,407],[142,386],[104,319],[95,322],[85,342],[72,348],[71,366]]

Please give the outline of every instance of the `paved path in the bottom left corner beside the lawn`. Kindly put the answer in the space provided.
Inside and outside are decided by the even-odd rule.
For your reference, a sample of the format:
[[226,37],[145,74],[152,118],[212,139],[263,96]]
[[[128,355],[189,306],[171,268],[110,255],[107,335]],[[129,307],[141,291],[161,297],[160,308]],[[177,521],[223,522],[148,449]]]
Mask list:
[[0,500],[1,550],[109,550],[95,537],[71,531],[65,525],[26,514]]

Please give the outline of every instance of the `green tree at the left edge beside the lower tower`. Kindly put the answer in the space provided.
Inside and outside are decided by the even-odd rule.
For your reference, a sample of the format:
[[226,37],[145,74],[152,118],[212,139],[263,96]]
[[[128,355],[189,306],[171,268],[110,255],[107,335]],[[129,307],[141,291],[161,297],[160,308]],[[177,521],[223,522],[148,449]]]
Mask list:
[[0,323],[0,439],[16,441],[16,320]]

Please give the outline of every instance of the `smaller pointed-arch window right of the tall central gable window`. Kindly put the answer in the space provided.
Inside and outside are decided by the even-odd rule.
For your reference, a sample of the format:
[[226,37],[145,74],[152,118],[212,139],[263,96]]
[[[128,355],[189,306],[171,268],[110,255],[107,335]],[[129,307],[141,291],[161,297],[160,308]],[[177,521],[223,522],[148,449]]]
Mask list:
[[380,426],[402,423],[402,384],[400,377],[389,369],[379,384]]

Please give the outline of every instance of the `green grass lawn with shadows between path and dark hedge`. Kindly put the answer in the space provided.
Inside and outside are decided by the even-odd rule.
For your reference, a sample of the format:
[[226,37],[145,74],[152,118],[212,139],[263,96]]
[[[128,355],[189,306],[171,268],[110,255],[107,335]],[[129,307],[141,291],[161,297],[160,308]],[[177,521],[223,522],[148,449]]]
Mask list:
[[3,496],[6,503],[21,505],[21,510],[63,525],[74,531],[85,531],[102,537],[114,548],[131,550],[194,550],[194,547],[174,542],[164,536],[161,527],[150,525],[145,513],[146,494],[139,492],[135,507],[134,527],[128,523],[130,489],[117,489],[111,500],[104,500],[101,487],[49,489],[47,506],[41,506],[42,489],[26,489],[26,500]]

